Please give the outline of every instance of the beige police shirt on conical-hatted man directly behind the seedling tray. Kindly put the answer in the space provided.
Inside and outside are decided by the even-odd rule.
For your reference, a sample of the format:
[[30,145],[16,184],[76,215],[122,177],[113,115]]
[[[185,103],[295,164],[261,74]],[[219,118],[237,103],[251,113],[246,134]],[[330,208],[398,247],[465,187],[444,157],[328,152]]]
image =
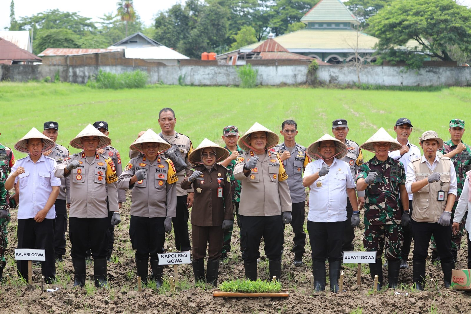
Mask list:
[[[259,156],[257,166],[246,176],[244,164],[252,156],[252,151],[242,153],[234,167],[234,177],[242,183],[239,215],[275,216],[291,212],[287,175],[283,165],[280,168],[276,152],[267,151],[265,157]],[[279,181],[280,177],[283,181]]]

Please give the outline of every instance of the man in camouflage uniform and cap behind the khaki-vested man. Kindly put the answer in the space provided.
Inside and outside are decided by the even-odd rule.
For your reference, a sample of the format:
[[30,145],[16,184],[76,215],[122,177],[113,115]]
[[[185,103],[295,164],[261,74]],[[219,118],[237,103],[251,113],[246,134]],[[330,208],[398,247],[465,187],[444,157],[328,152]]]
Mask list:
[[[460,195],[463,190],[464,179],[466,179],[466,172],[471,170],[471,148],[461,140],[464,134],[464,120],[452,119],[450,121],[448,132],[450,132],[450,140],[443,143],[443,147],[438,151],[442,153],[443,156],[449,157],[455,166],[458,194],[456,195],[455,204],[451,211],[451,220],[453,221],[456,205],[458,205],[458,200],[460,199]],[[461,238],[463,237],[466,216],[467,215],[464,215],[458,232],[451,236],[451,253],[453,254],[453,261],[455,263],[458,250],[461,247]],[[437,246],[435,245],[435,239],[433,236],[431,238],[430,248],[432,249],[432,260],[438,261],[439,256],[437,253]]]

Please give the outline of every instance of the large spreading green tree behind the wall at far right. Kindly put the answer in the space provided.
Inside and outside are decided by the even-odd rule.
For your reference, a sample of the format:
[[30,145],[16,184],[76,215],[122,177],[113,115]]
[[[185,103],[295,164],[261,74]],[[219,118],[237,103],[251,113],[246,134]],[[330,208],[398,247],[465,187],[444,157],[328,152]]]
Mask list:
[[[403,59],[414,67],[429,56],[453,60],[450,47],[471,52],[471,10],[454,0],[396,0],[369,19],[370,30],[379,38],[382,58]],[[414,48],[409,41],[414,41]],[[404,48],[398,49],[399,46]]]

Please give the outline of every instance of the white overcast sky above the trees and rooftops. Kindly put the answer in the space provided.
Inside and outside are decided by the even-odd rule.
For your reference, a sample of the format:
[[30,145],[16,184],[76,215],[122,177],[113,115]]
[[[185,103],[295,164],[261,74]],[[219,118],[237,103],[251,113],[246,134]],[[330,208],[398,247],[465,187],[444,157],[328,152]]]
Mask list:
[[[346,1],[346,0],[342,0]],[[0,0],[0,30],[10,26],[10,2]],[[117,0],[15,0],[15,17],[28,17],[49,10],[78,12],[83,17],[91,17],[92,21],[98,21],[105,13],[116,12]],[[162,10],[170,8],[178,2],[185,0],[134,0],[134,9],[146,26],[154,23],[154,15]],[[456,0],[456,2],[471,7],[471,0]]]

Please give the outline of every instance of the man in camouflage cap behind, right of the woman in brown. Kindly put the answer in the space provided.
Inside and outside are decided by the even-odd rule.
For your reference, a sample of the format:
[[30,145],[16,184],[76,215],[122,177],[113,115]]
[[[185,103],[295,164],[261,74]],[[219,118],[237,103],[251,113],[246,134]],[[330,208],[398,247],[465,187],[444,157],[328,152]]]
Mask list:
[[[229,157],[225,160],[221,161],[221,165],[225,166],[229,170],[229,179],[231,180],[231,192],[232,192],[232,205],[234,206],[235,216],[237,218],[237,225],[240,228],[240,220],[239,220],[239,202],[240,202],[240,190],[241,190],[241,183],[239,180],[235,180],[233,170],[235,166],[235,160],[239,156],[239,154],[243,153],[239,145],[237,145],[237,141],[239,140],[239,129],[237,129],[234,125],[227,125],[223,130],[222,140],[226,143],[224,146],[225,149],[229,152]],[[231,239],[232,239],[232,230],[234,228],[234,224],[229,227],[228,229],[224,229],[224,237],[222,242],[222,255],[221,261],[227,258],[227,253],[231,251]]]

